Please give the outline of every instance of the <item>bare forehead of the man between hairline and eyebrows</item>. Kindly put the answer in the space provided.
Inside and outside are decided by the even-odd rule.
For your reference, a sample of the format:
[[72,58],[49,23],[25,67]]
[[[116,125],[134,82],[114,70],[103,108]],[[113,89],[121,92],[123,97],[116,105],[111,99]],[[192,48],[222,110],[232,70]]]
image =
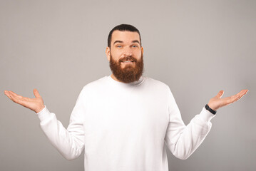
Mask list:
[[139,41],[140,35],[137,32],[133,31],[113,31],[112,33],[112,43],[115,41],[123,41],[124,43],[130,43],[131,41]]

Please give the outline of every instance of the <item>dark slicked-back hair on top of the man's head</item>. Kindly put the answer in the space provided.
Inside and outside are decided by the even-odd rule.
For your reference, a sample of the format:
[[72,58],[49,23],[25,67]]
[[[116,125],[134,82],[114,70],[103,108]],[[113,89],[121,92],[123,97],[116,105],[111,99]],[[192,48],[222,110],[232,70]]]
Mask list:
[[[112,33],[113,31],[132,31],[132,32],[137,32],[138,35],[140,36],[140,31],[138,31],[135,26],[132,26],[130,24],[120,24],[118,26],[115,26],[108,34],[108,47],[111,48],[111,40],[112,40]],[[141,38],[140,38],[140,46],[141,46]]]

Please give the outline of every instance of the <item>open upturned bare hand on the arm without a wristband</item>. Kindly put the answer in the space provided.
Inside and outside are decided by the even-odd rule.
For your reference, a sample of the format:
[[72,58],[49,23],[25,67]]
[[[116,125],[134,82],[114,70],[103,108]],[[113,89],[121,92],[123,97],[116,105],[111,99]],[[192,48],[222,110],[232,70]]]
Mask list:
[[15,103],[23,105],[24,107],[33,110],[35,113],[39,113],[44,108],[43,98],[41,97],[41,95],[39,95],[38,90],[34,89],[33,92],[36,98],[25,98],[21,95],[17,95],[16,93],[8,90],[5,90],[4,94],[8,96],[11,100],[13,100]]

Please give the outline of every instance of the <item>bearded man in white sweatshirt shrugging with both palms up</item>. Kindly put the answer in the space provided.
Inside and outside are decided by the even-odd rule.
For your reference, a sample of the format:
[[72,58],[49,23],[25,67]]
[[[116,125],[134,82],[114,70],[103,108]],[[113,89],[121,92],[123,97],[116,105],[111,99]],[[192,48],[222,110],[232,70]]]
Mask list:
[[68,128],[36,98],[12,91],[15,103],[34,110],[43,132],[67,160],[84,149],[85,170],[168,170],[164,143],[180,159],[187,159],[208,135],[216,110],[233,103],[248,90],[221,98],[221,90],[185,126],[170,88],[142,76],[143,47],[137,28],[121,24],[108,36],[106,56],[112,74],[88,83],[78,96]]

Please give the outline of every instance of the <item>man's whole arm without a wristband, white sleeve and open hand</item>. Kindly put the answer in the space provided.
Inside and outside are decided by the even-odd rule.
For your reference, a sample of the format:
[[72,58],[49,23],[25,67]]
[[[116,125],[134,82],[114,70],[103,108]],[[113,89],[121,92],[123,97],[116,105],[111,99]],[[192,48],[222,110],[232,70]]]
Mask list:
[[[76,105],[71,113],[68,128],[64,128],[62,123],[57,120],[54,113],[50,113],[43,105],[43,100],[39,92],[35,89],[36,98],[24,98],[11,91],[5,91],[5,94],[15,103],[24,105],[24,107],[34,110],[40,119],[41,129],[50,140],[51,144],[56,147],[58,152],[67,160],[76,159],[84,147],[83,132],[83,90],[76,100]],[[43,106],[43,108],[42,108]]]

